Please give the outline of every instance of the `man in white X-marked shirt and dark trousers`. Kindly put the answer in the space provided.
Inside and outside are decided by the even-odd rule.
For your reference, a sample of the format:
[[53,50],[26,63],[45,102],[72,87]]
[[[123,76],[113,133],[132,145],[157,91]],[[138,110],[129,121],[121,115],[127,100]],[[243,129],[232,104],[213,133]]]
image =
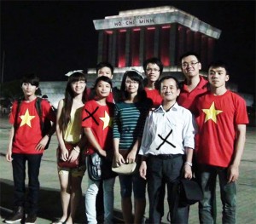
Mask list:
[[158,204],[162,181],[167,184],[172,223],[188,223],[187,210],[177,208],[174,214],[173,209],[182,169],[184,178],[192,178],[195,119],[189,110],[177,105],[179,93],[176,78],[161,78],[162,104],[149,113],[144,127],[139,151],[143,155],[140,175],[148,180],[149,223],[160,223],[162,214]]

